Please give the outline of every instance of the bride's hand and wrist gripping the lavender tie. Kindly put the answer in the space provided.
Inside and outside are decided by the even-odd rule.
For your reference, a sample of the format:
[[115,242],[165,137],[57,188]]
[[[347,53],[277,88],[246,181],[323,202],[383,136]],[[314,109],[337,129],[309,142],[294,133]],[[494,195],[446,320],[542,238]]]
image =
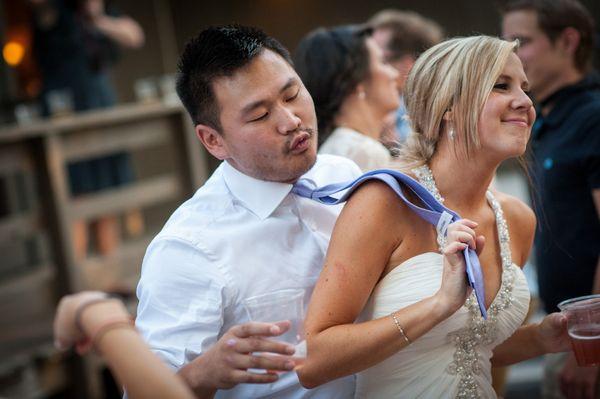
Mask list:
[[470,294],[463,251],[471,247],[479,255],[483,250],[485,239],[483,236],[477,236],[474,230],[476,227],[477,223],[469,219],[461,219],[448,226],[447,242],[442,250],[442,285],[436,293],[440,306],[448,314],[456,312],[464,305]]

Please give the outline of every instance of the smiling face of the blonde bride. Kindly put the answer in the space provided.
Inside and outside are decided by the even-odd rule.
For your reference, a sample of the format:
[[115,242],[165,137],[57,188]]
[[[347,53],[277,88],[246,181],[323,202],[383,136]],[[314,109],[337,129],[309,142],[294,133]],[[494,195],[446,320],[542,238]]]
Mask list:
[[528,90],[523,65],[511,53],[479,116],[479,139],[486,152],[503,159],[525,152],[535,121]]

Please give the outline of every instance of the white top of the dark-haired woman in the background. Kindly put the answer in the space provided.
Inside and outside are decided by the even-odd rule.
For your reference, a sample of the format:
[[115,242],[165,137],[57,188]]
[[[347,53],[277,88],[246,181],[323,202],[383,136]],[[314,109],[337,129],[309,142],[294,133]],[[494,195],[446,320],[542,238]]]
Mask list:
[[319,154],[333,154],[356,162],[363,172],[389,167],[390,152],[379,141],[347,127],[336,127],[319,148]]

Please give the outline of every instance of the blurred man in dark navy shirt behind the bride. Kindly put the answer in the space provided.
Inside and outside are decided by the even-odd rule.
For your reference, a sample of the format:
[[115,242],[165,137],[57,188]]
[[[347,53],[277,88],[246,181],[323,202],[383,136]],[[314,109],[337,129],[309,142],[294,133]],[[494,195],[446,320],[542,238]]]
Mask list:
[[[600,293],[600,77],[591,72],[593,19],[576,0],[510,1],[503,36],[519,39],[536,100],[530,170],[538,217],[536,261],[547,312]],[[595,397],[597,367],[571,354],[558,372],[567,397]],[[560,397],[560,396],[547,396]]]

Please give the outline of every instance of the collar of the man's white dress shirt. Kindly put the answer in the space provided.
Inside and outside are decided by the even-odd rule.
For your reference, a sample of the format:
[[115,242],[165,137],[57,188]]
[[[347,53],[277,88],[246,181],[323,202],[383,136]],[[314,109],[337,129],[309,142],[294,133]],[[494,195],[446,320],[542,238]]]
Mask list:
[[290,193],[292,185],[259,180],[223,162],[223,178],[234,197],[260,219],[266,219]]

